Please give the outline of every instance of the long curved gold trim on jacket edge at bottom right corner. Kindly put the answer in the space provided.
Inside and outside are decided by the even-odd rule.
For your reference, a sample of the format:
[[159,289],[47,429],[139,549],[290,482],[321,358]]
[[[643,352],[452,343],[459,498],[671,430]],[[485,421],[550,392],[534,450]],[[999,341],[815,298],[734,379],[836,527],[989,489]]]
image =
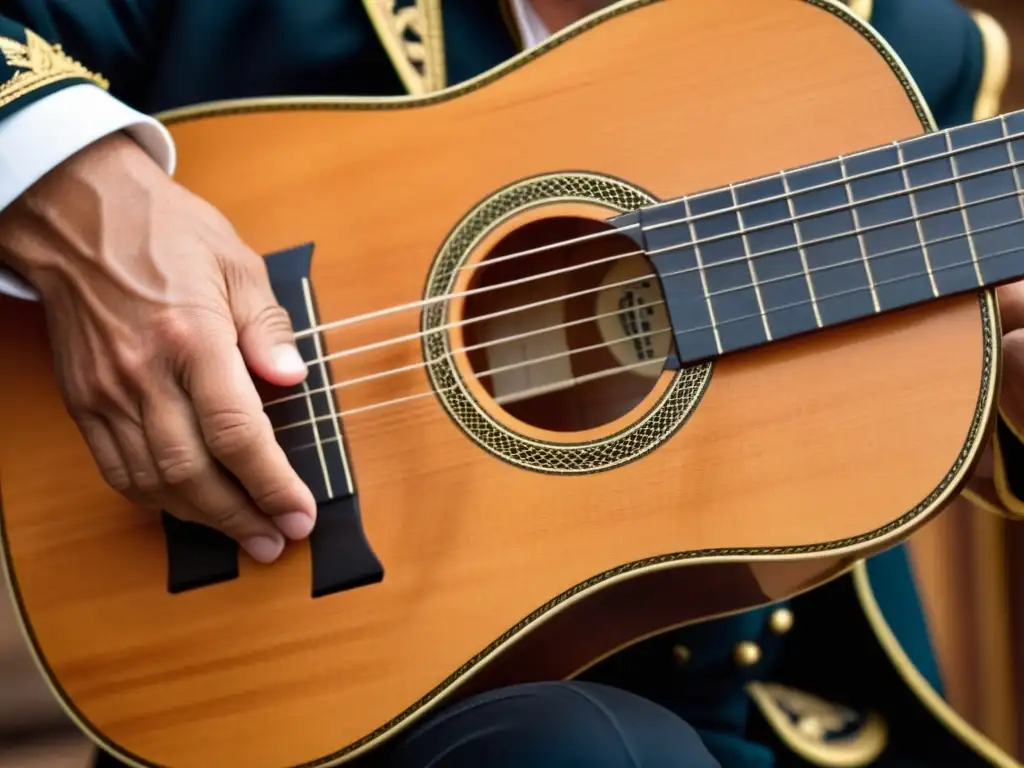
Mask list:
[[886,622],[878,600],[874,599],[870,578],[867,574],[867,564],[864,560],[860,560],[853,566],[853,586],[861,610],[863,610],[864,616],[867,618],[867,623],[882,645],[882,649],[885,651],[889,662],[903,680],[903,683],[924,705],[932,717],[938,720],[945,726],[946,730],[967,744],[978,757],[985,760],[989,765],[997,766],[997,768],[1024,768],[1024,765],[1018,763],[994,741],[988,738],[988,736],[967,722],[939,695],[938,691],[931,686],[925,676],[913,666],[910,657],[903,650],[903,646],[896,639],[896,635],[889,626],[889,623]]

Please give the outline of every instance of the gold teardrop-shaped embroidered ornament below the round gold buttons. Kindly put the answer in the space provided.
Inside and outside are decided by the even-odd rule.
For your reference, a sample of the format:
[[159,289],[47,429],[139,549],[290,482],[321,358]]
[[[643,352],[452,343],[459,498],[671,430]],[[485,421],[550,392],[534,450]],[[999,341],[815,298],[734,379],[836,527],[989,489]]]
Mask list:
[[[746,693],[782,743],[814,765],[862,768],[889,743],[889,728],[878,713],[862,716],[778,683],[749,683]],[[856,730],[844,733],[853,725]]]

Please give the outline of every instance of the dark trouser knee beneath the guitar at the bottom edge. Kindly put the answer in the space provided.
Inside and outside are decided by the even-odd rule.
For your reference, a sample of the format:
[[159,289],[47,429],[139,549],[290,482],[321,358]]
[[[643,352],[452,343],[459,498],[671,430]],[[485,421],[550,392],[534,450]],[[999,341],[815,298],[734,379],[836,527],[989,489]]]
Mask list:
[[[720,768],[696,731],[664,707],[617,688],[574,681],[517,685],[468,698],[349,765]],[[101,755],[95,768],[121,764]]]

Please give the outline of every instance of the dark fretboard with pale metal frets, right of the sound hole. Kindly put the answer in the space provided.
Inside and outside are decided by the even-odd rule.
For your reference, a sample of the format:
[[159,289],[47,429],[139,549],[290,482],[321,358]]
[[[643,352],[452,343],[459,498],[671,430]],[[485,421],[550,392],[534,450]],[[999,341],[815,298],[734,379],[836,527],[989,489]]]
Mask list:
[[692,362],[1024,276],[1024,112],[623,217]]

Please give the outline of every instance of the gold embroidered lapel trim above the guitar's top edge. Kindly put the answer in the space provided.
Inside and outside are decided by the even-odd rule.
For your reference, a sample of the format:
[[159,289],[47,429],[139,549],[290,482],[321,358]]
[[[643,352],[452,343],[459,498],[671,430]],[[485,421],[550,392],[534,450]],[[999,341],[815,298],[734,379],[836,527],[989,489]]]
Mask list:
[[444,88],[440,0],[362,0],[362,4],[406,90],[420,96]]

